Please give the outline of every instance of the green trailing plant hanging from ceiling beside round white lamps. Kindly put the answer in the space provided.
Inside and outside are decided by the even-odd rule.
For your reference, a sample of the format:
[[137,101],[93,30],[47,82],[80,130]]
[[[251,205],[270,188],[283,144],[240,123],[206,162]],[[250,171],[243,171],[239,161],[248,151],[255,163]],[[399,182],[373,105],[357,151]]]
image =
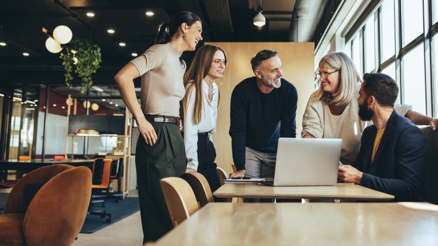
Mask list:
[[81,93],[87,92],[93,84],[91,74],[96,73],[102,62],[100,47],[87,39],[73,39],[64,46],[60,58],[65,69],[65,83],[71,87],[72,72],[81,79]]

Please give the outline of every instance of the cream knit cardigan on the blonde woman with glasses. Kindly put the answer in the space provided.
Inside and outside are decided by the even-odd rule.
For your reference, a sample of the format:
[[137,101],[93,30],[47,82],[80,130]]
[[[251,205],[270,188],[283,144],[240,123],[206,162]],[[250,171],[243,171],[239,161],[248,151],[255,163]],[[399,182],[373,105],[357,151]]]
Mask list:
[[[371,121],[363,121],[359,118],[359,106],[356,101],[359,89],[360,83],[356,87],[356,97],[341,115],[333,115],[326,103],[310,97],[302,116],[301,137],[312,135],[315,138],[342,139],[340,160],[346,165],[351,165],[356,159],[362,132],[372,124]],[[394,109],[399,115],[405,116],[412,106],[398,104]]]

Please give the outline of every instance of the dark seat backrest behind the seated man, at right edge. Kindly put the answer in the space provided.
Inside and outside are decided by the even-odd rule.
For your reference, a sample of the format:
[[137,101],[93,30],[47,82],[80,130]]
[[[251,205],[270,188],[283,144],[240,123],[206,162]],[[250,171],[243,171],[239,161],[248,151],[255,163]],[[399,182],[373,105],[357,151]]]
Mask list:
[[427,140],[426,200],[438,204],[438,130],[426,127],[422,131]]

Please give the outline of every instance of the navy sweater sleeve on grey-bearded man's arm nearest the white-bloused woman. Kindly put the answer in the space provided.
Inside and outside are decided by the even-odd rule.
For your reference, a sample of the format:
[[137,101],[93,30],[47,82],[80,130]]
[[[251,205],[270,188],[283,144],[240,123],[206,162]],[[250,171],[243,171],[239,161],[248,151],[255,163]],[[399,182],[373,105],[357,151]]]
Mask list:
[[230,136],[234,165],[238,171],[245,169],[246,110],[243,93],[239,88],[234,88],[231,94]]

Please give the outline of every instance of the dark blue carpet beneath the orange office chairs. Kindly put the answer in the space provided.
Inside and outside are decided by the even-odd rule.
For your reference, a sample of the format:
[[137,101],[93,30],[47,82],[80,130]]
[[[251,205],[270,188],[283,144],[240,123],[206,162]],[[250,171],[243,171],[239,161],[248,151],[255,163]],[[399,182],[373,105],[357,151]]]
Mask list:
[[102,228],[109,226],[131,214],[140,210],[138,197],[128,197],[119,202],[114,202],[114,198],[105,199],[105,208],[100,207],[100,204],[95,204],[95,210],[105,209],[106,213],[111,214],[111,223],[106,222],[106,218],[101,218],[98,215],[87,215],[81,233],[93,233]]

